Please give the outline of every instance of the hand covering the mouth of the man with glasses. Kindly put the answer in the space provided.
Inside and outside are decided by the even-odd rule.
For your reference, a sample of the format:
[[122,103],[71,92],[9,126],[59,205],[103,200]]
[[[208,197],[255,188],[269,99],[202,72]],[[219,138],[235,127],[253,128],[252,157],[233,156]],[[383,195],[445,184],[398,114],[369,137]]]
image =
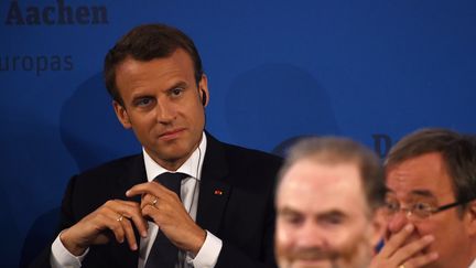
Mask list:
[[434,240],[432,235],[424,236],[418,240],[403,245],[405,239],[413,232],[414,226],[408,224],[399,233],[393,235],[383,246],[379,254],[377,254],[370,268],[415,268],[425,266],[435,259],[439,255],[436,253],[422,254],[421,250],[430,246]]

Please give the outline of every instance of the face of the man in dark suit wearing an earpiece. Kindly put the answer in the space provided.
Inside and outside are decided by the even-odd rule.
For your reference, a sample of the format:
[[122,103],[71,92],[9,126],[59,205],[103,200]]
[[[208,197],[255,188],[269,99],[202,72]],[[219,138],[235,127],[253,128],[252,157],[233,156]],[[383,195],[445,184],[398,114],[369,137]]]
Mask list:
[[116,68],[116,84],[123,106],[113,105],[122,126],[133,129],[159,164],[180,168],[201,141],[205,125],[201,96],[209,96],[205,76],[197,88],[188,54],[178,49],[149,62],[126,58]]

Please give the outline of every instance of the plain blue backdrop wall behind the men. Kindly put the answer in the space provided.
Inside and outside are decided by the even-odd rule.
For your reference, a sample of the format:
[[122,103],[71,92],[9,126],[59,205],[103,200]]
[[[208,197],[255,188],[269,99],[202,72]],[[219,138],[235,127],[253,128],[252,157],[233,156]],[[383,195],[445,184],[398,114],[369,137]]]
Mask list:
[[101,68],[147,22],[195,40],[207,129],[224,141],[280,151],[302,135],[342,135],[385,156],[421,127],[476,132],[474,0],[1,0],[4,267],[43,246],[72,174],[140,151]]

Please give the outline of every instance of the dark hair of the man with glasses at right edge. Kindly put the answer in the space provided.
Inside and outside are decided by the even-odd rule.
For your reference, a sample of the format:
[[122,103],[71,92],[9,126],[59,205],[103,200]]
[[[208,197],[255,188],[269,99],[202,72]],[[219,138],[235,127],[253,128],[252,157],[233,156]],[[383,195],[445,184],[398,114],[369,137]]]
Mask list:
[[[385,161],[389,169],[425,153],[439,152],[458,202],[476,197],[476,138],[443,128],[416,130],[397,142]],[[465,207],[463,205],[463,207]]]

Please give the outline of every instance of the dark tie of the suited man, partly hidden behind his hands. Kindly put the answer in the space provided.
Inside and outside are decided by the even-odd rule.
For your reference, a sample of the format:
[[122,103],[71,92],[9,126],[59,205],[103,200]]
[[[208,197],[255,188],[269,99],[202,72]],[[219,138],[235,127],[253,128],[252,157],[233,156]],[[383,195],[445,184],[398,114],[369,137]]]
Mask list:
[[[184,173],[165,172],[158,175],[154,181],[175,192],[180,199],[181,182],[188,175]],[[178,249],[159,229],[144,268],[173,268],[175,267],[177,259]]]

